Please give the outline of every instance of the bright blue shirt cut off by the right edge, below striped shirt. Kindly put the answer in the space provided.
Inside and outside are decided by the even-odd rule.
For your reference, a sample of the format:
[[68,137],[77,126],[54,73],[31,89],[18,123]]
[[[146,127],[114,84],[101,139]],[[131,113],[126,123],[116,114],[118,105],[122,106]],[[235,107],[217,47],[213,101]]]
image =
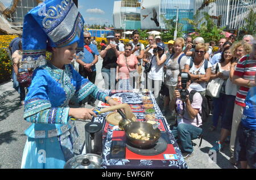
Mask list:
[[247,93],[241,121],[243,126],[256,130],[256,87],[251,87]]

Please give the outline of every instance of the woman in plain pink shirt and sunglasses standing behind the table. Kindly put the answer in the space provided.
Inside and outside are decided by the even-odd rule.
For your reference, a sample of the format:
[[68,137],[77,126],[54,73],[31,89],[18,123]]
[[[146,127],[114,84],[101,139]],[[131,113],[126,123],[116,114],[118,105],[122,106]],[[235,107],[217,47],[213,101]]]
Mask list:
[[125,45],[125,54],[119,55],[117,59],[117,72],[115,79],[118,89],[131,91],[135,88],[135,77],[138,76],[138,59],[131,54],[132,46]]

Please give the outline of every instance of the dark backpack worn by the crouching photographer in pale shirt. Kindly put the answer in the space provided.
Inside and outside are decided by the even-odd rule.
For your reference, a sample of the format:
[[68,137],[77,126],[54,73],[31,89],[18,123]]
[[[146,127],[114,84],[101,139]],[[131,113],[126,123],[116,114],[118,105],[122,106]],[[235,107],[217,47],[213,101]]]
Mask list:
[[[193,102],[193,96],[195,95],[196,92],[197,91],[192,89],[192,91],[188,95],[188,98],[189,98],[189,101],[190,101],[191,104]],[[199,112],[199,114],[201,115],[202,123],[205,123],[205,122],[207,122],[208,117],[210,115],[210,109],[209,109],[209,104],[208,104],[207,98],[205,96],[202,96],[202,95],[201,95],[201,97],[203,98],[202,108],[201,108],[202,112],[201,113]],[[198,125],[199,124],[199,120],[198,120],[197,115],[196,115],[196,121],[197,121],[197,125]]]

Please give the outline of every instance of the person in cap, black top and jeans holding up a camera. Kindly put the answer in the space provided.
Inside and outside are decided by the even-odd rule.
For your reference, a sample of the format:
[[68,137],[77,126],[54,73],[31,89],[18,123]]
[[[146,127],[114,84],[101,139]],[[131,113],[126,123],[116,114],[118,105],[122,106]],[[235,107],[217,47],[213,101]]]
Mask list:
[[115,89],[115,71],[117,67],[117,58],[119,56],[119,47],[114,45],[114,33],[109,32],[106,36],[108,46],[102,46],[100,55],[103,58],[101,73],[105,83],[105,89]]

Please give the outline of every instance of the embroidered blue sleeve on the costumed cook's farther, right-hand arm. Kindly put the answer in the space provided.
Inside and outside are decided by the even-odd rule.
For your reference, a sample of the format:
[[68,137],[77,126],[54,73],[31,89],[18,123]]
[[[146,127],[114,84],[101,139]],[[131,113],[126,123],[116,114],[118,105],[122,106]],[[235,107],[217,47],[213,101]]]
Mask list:
[[75,96],[78,101],[82,101],[87,96],[93,96],[97,100],[106,102],[105,97],[107,95],[104,92],[100,91],[96,85],[82,77],[78,72],[74,71],[74,73],[77,81]]

